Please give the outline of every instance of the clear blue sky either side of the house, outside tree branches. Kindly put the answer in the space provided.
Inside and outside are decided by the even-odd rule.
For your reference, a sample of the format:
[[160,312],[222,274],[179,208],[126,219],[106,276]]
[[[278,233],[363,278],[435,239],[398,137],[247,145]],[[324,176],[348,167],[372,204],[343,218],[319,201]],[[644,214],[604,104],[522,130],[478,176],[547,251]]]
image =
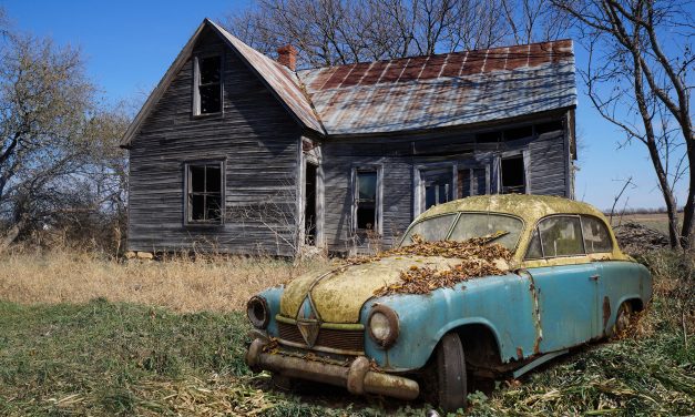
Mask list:
[[[0,0],[13,26],[59,44],[79,47],[91,79],[109,101],[130,100],[151,91],[204,18],[221,19],[249,0],[50,1]],[[575,44],[578,67],[585,54]],[[646,149],[634,143],[617,150],[624,136],[602,120],[578,78],[576,131],[580,136],[576,197],[610,208],[623,183],[630,207],[663,206]],[[141,98],[142,100],[142,98]],[[677,193],[685,200],[685,184]],[[621,202],[621,205],[623,202]]]

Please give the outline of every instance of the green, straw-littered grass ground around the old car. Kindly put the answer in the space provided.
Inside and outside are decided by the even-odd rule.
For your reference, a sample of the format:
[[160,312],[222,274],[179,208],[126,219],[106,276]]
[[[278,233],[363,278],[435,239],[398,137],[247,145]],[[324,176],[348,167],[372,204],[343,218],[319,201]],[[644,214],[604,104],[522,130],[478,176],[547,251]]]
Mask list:
[[[58,262],[50,258],[39,262],[45,265]],[[255,265],[254,271],[268,274],[256,277],[258,281],[273,281],[298,267],[278,261],[246,261]],[[241,263],[234,268],[207,267],[252,268],[246,261],[233,261]],[[692,415],[695,340],[686,345],[685,335],[692,337],[695,324],[692,316],[682,321],[678,314],[688,311],[682,308],[682,303],[692,303],[681,295],[682,286],[691,284],[677,275],[679,266],[673,256],[647,261],[656,272],[656,298],[634,333],[621,340],[582,348],[520,382],[499,382],[499,389],[489,396],[474,393],[467,413],[474,416]],[[8,262],[17,262],[17,257],[0,260],[0,271],[7,271]],[[102,263],[108,261],[95,262],[101,266],[83,268],[96,271],[105,267]],[[171,268],[172,274],[195,269],[166,264],[143,267]],[[35,274],[40,273],[35,269]],[[141,277],[133,272],[119,274],[124,282],[131,274]],[[145,275],[150,274],[154,273]],[[16,276],[22,279],[30,274]],[[268,375],[253,376],[244,365],[248,326],[238,303],[216,303],[206,308],[198,301],[185,302],[184,291],[176,291],[171,299],[164,297],[167,302],[153,303],[166,307],[145,305],[146,297],[126,302],[127,294],[108,291],[101,298],[89,302],[83,301],[90,294],[86,291],[74,292],[78,295],[73,301],[68,296],[70,292],[63,292],[55,301],[38,292],[39,303],[32,303],[7,289],[4,279],[6,289],[0,293],[0,415],[3,416],[421,416],[428,408],[422,403],[354,397],[341,389],[318,390],[321,394],[315,394],[317,389],[313,394],[274,390]],[[24,287],[14,284],[12,288]],[[214,287],[219,285],[215,282]],[[190,297],[202,293],[205,291],[191,292]],[[184,306],[177,306],[174,301]]]

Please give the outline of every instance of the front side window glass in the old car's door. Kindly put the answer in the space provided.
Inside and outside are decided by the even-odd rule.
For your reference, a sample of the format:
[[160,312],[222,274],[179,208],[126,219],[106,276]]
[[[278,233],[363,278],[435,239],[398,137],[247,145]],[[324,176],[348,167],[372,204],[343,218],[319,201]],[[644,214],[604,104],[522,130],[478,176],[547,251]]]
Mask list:
[[539,224],[545,257],[584,254],[582,224],[579,216],[553,216]]

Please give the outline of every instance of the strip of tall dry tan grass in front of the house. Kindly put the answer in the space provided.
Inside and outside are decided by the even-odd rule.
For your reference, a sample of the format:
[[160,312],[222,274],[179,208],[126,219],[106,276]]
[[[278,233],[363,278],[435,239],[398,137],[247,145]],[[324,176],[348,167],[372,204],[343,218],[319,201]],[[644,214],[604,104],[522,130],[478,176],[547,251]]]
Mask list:
[[175,312],[242,311],[252,295],[321,262],[327,261],[213,256],[117,262],[69,250],[16,251],[0,255],[0,299],[54,304],[104,297]]

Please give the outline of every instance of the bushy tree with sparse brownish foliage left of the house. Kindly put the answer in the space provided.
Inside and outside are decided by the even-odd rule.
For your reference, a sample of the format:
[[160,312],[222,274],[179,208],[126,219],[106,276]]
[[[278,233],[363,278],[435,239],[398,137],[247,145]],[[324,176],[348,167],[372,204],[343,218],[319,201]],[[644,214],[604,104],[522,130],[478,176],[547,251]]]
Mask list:
[[100,108],[80,52],[7,31],[0,57],[0,251],[67,213],[123,212],[127,118]]

